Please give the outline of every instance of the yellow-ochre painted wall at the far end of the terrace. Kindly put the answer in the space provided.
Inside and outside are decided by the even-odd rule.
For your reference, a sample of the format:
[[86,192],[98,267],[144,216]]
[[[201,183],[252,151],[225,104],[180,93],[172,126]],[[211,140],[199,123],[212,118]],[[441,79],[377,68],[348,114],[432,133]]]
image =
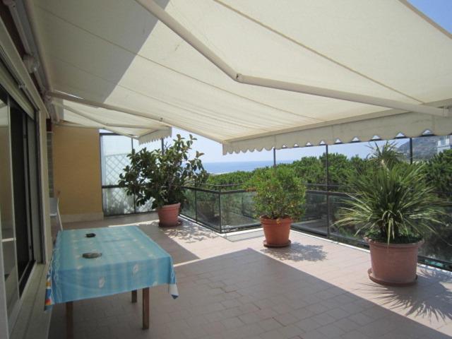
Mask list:
[[102,213],[97,129],[54,126],[54,194],[61,215]]

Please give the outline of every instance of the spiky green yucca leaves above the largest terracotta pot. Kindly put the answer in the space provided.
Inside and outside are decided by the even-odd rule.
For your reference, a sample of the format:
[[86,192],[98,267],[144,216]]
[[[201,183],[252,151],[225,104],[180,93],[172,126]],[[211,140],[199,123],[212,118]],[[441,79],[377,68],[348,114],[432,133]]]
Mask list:
[[[412,243],[434,232],[442,201],[425,180],[424,165],[376,167],[371,176],[352,179],[356,194],[341,208],[336,225],[358,227],[356,234],[376,242]],[[356,235],[355,234],[355,235]]]

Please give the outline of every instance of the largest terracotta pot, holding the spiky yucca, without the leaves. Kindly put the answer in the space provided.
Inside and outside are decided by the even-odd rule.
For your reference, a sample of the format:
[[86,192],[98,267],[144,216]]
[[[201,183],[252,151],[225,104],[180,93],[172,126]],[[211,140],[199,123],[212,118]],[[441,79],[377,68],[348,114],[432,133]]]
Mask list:
[[375,283],[404,286],[416,283],[417,249],[423,241],[412,244],[386,244],[364,238],[370,246],[369,278]]

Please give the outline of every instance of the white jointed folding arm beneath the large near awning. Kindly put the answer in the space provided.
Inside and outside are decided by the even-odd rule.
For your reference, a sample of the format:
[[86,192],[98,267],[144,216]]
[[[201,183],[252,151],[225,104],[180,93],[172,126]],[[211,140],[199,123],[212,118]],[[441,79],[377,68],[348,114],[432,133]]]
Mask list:
[[387,107],[392,109],[402,109],[408,112],[417,112],[424,114],[432,114],[439,117],[449,117],[451,110],[446,108],[429,107],[425,105],[415,105],[408,102],[401,102],[398,100],[386,99],[383,97],[373,97],[371,95],[362,95],[358,93],[344,92],[341,90],[331,90],[328,88],[320,88],[309,85],[302,85],[299,83],[288,83],[285,81],[277,81],[268,78],[258,78],[254,76],[246,76],[240,74],[227,64],[224,60],[218,57],[215,52],[209,49],[201,40],[198,40],[189,30],[181,25],[177,20],[170,16],[163,8],[155,3],[153,0],[136,0],[143,8],[149,11],[153,16],[158,18],[162,23],[167,25],[169,29],[175,32],[179,37],[194,47],[206,59],[215,64],[233,81],[244,83],[246,85],[255,85],[265,88],[275,88],[278,90],[287,90],[290,92],[304,93],[309,95],[317,95],[320,97],[331,97],[333,99],[345,100],[350,102],[360,102],[362,104],[374,105],[379,107]]

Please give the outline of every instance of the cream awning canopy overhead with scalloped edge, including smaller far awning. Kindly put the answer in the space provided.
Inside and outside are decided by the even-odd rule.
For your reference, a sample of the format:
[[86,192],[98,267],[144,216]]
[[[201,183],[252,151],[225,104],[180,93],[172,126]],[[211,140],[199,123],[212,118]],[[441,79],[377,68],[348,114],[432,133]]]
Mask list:
[[39,0],[30,16],[72,123],[141,142],[175,126],[224,153],[452,133],[447,108],[422,108],[452,105],[452,35],[405,0]]

